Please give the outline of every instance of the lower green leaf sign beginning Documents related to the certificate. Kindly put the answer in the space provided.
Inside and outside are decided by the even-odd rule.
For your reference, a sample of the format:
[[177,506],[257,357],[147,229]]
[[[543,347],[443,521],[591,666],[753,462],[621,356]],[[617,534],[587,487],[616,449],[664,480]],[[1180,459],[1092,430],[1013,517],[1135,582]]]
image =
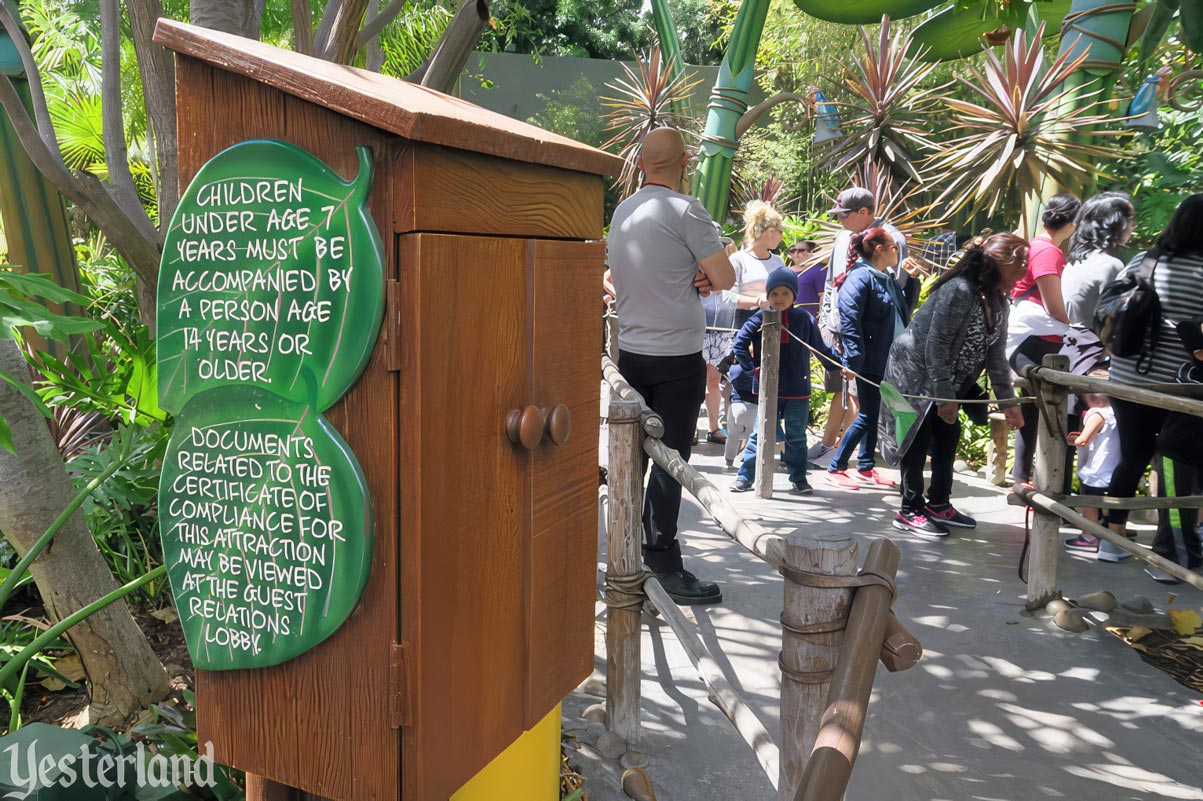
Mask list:
[[304,653],[338,629],[367,583],[372,505],[355,456],[312,407],[259,387],[189,400],[167,445],[159,522],[202,670]]

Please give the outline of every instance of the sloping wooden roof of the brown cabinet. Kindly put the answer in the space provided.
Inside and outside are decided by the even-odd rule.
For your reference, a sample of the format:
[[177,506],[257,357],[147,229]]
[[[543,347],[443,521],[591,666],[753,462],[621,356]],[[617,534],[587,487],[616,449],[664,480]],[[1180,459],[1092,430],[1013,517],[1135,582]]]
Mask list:
[[416,142],[600,176],[622,172],[615,155],[397,78],[165,18],[154,41]]

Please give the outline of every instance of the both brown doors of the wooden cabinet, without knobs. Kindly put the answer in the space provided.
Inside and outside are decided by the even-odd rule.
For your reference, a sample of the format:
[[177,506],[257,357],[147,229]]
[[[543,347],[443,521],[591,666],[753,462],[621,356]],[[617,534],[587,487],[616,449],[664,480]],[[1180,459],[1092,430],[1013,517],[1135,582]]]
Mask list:
[[[603,247],[398,237],[405,801],[445,801],[593,669]],[[527,450],[510,410],[564,404]]]

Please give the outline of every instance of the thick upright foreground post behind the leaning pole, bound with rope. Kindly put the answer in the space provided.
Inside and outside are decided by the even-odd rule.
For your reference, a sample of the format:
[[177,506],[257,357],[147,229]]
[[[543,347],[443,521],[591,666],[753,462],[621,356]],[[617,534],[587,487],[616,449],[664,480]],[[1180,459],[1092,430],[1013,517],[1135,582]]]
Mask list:
[[[824,576],[852,576],[857,542],[848,534],[805,534],[799,528],[786,538],[784,564]],[[852,594],[851,587],[795,583],[787,571],[781,613],[781,801],[794,801],[814,749]]]

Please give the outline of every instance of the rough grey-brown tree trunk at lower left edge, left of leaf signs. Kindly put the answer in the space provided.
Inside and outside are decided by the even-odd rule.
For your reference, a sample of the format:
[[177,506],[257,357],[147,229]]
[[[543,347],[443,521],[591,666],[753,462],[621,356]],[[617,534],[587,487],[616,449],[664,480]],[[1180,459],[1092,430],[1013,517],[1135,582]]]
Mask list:
[[[28,381],[16,342],[0,339],[0,372]],[[18,456],[0,451],[0,529],[24,554],[75,496],[46,420],[7,381],[0,381],[0,409],[12,429]],[[76,512],[34,562],[47,613],[59,621],[117,589],[84,523]],[[125,601],[117,601],[70,633],[91,690],[88,722],[118,725],[161,700],[168,678]]]

